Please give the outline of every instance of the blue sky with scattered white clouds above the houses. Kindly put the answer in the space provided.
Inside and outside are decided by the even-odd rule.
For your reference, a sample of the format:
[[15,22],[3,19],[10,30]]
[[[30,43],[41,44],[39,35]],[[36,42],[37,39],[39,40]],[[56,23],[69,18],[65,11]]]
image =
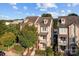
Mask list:
[[69,13],[79,15],[78,9],[78,3],[0,3],[0,19],[21,19],[43,13],[50,13],[57,18]]

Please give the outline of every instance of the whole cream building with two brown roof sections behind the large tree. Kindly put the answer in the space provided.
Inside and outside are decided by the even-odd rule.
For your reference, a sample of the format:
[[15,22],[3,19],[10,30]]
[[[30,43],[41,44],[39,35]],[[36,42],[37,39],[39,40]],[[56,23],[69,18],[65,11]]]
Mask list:
[[25,24],[28,24],[29,26],[34,25],[37,28],[37,49],[45,50],[45,47],[51,47],[52,21],[53,19],[51,17],[29,16],[25,18]]

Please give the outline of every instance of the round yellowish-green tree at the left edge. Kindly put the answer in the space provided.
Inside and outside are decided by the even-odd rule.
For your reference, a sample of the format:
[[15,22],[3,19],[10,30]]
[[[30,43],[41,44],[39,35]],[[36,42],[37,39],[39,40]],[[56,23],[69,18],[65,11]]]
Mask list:
[[15,43],[16,36],[11,32],[5,32],[0,38],[0,44],[4,47],[10,47]]

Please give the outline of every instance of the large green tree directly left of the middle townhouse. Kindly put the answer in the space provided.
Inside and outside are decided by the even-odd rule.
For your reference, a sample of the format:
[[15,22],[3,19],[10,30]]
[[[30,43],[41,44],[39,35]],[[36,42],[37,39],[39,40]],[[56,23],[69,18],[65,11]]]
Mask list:
[[33,26],[25,25],[25,27],[20,32],[19,41],[24,48],[28,48],[29,53],[29,47],[33,47],[33,45],[37,41],[37,32],[34,25]]

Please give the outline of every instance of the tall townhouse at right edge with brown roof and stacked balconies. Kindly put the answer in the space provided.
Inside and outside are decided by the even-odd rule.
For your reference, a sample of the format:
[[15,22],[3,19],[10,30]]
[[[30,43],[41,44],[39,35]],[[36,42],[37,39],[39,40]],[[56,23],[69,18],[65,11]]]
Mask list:
[[69,50],[70,54],[76,54],[79,43],[79,17],[62,16],[58,19],[58,51]]

